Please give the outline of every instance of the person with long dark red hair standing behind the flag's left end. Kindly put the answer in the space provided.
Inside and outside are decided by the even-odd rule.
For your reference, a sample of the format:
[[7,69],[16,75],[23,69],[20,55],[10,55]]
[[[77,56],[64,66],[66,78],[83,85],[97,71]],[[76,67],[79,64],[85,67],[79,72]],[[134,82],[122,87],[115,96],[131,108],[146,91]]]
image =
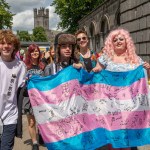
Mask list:
[[[46,64],[41,61],[41,53],[38,45],[31,44],[29,46],[25,64],[27,66],[27,80],[32,75],[44,75]],[[32,150],[38,150],[39,146],[36,137],[36,121],[33,115],[33,109],[28,97],[27,89],[24,91],[23,105],[24,113],[27,115],[28,129],[33,143]]]

